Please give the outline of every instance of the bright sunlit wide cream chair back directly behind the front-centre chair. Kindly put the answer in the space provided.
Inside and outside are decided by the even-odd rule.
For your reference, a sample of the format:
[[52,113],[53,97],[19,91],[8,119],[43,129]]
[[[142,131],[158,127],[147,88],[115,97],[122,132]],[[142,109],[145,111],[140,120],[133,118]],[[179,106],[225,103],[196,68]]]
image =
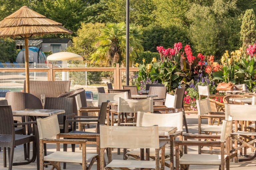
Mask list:
[[159,127],[177,127],[177,131],[183,131],[183,113],[152,114],[137,113],[137,126],[148,127],[158,125]]

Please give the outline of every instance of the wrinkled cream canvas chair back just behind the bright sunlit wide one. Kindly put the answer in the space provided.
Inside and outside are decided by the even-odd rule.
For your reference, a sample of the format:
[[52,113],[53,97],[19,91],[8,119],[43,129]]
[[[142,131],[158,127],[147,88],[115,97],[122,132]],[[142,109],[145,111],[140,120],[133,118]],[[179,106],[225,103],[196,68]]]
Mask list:
[[119,113],[137,113],[153,112],[153,98],[135,100],[135,99],[118,99],[118,112]]

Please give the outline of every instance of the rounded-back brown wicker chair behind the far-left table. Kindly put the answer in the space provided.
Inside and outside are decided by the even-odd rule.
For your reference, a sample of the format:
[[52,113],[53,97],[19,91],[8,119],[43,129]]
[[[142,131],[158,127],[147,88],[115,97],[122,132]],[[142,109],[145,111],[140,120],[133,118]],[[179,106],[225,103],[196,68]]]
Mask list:
[[[8,101],[8,105],[12,107],[12,110],[23,110],[23,109],[43,109],[41,100],[30,93],[23,92],[8,92],[6,93],[5,99]],[[14,116],[14,121],[19,122],[30,122],[29,117],[25,116]],[[32,128],[27,125],[28,134],[32,133]],[[15,128],[15,134],[26,134],[26,126]],[[27,150],[27,151],[26,151]],[[24,157],[25,160],[29,158],[30,155],[30,144],[27,147],[24,145]]]

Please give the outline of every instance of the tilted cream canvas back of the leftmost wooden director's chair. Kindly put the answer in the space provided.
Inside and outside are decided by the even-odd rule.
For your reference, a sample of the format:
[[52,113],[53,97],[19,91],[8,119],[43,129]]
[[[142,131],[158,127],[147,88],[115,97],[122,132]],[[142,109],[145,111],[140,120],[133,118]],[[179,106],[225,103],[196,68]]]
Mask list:
[[36,119],[39,139],[45,139],[55,136],[60,133],[59,122],[57,115],[53,115],[47,118]]

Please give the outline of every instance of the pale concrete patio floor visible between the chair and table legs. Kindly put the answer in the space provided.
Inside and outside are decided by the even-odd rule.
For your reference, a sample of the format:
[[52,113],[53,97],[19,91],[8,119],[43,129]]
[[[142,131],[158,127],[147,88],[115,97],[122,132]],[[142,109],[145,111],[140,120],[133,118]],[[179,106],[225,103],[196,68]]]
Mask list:
[[[189,128],[189,132],[190,133],[197,133],[198,132],[198,123],[197,123],[197,115],[196,114],[186,114],[187,117],[187,122],[188,122],[188,128]],[[206,125],[207,124],[207,120],[203,120],[202,124]],[[95,130],[95,128],[92,128],[90,130]],[[185,129],[184,129],[185,131]],[[47,153],[51,153],[53,151],[55,151],[56,145],[55,144],[47,144]],[[69,151],[71,151],[71,145],[68,146],[69,147]],[[87,145],[87,153],[96,153],[96,145],[93,144],[88,144]],[[76,147],[76,151],[80,152],[78,146]],[[189,153],[198,153],[198,147],[194,146],[194,147],[189,147],[188,149]],[[249,155],[252,155],[253,153],[251,152],[251,149],[247,150],[247,153]],[[32,153],[31,153],[32,154]],[[117,155],[117,149],[115,149],[114,151],[112,151],[112,159],[122,159],[122,150],[121,150],[121,154]],[[106,154],[105,154],[106,157]],[[14,150],[14,159],[13,162],[22,162],[24,160],[24,153],[23,153],[23,145],[18,146],[15,148]],[[106,163],[107,163],[107,159]],[[248,162],[230,162],[230,169],[231,170],[247,170],[247,169],[255,169],[256,166],[256,159],[254,159],[253,161],[248,161]],[[61,164],[61,167],[63,169],[63,165]],[[254,168],[253,168],[254,167]],[[7,161],[7,168],[3,167],[3,154],[2,152],[0,152],[0,170],[7,170],[8,169],[8,161]],[[21,166],[13,166],[12,168],[13,170],[36,170],[36,162],[33,162],[29,165],[21,165]],[[45,168],[45,170],[50,170],[51,166],[48,166],[48,168]],[[76,170],[76,169],[81,169],[81,166],[79,164],[72,164],[72,163],[67,163],[67,170]],[[96,170],[96,162],[94,163],[92,170]],[[169,169],[167,167],[165,167],[165,169]],[[219,167],[218,166],[211,166],[211,165],[191,165],[190,166],[191,170],[198,170],[198,169],[205,169],[205,170],[218,170]]]

